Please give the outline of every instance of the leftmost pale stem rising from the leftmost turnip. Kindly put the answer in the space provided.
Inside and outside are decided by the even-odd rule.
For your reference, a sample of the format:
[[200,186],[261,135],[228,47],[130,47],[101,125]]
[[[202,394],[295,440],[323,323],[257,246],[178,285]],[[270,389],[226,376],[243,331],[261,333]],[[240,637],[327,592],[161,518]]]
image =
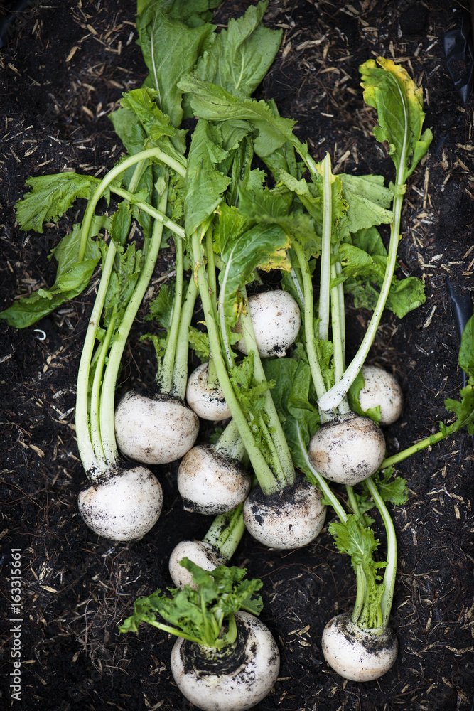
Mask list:
[[89,319],[89,325],[87,326],[79,370],[77,372],[75,416],[77,447],[79,449],[85,473],[91,481],[95,481],[100,474],[103,474],[108,469],[108,463],[102,456],[102,453],[94,451],[94,448],[92,447],[89,429],[88,395],[90,363],[94,351],[97,329],[99,328],[99,320],[102,314],[102,309],[104,308],[105,296],[109,286],[109,279],[114,267],[116,252],[117,250],[114,242],[110,240],[109,246],[107,247],[107,256],[105,257],[104,265],[102,267],[102,277],[99,282],[99,289],[97,290],[97,296],[95,297],[92,314]]

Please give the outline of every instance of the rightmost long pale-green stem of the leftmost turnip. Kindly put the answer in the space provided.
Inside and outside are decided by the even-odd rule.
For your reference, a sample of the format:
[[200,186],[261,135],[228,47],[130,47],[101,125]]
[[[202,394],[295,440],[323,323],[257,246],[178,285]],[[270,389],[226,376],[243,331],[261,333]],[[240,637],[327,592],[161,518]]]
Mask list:
[[[158,201],[158,205],[163,211],[166,210],[167,200],[168,186],[166,186]],[[131,295],[131,299],[126,306],[122,321],[119,324],[117,333],[115,334],[112,348],[110,348],[107,368],[105,369],[100,402],[100,432],[104,455],[109,464],[116,464],[118,458],[114,428],[114,400],[120,363],[122,361],[126,339],[129,337],[131,326],[134,322],[136,313],[139,310],[146,289],[150,283],[153,270],[155,269],[156,260],[158,259],[158,253],[161,247],[162,235],[163,224],[155,222],[153,224],[153,231],[151,233],[150,244],[146,252],[144,266],[141,269],[134,293]]]

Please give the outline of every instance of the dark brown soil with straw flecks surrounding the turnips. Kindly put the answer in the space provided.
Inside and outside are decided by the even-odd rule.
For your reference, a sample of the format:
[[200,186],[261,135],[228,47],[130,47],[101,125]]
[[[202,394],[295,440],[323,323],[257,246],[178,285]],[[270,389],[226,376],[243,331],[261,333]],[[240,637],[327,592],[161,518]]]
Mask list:
[[[43,234],[21,232],[14,204],[26,179],[68,170],[103,176],[123,151],[107,116],[122,92],[146,77],[133,2],[23,5],[0,50],[5,306],[53,283],[48,252],[75,214]],[[220,23],[245,6],[225,1]],[[394,58],[424,86],[425,125],[434,139],[409,181],[399,270],[424,280],[426,303],[402,321],[384,316],[370,354],[404,389],[404,415],[386,432],[390,454],[446,421],[444,400],[456,397],[463,384],[450,287],[470,297],[474,286],[473,105],[461,100],[443,55],[443,33],[461,11],[462,4],[448,0],[270,0],[266,20],[283,28],[284,38],[258,95],[273,97],[282,115],[296,119],[298,136],[315,159],[329,151],[338,171],[394,178],[387,150],[371,134],[373,113],[362,101],[357,68],[363,61]],[[153,283],[167,269],[163,258]],[[75,439],[75,378],[96,287],[97,279],[32,328],[16,331],[0,321],[2,707],[188,710],[170,673],[173,639],[152,629],[119,636],[117,625],[135,597],[171,585],[171,550],[183,538],[202,538],[210,520],[183,512],[175,465],[156,468],[163,514],[139,542],[114,545],[99,538],[77,513],[84,474]],[[143,316],[144,310],[124,356],[122,388],[153,379],[149,343],[135,342]],[[348,316],[354,350],[369,314],[348,304]],[[206,434],[203,429],[203,440]],[[355,594],[350,561],[335,552],[327,526],[296,551],[266,550],[244,536],[234,562],[263,580],[262,619],[281,652],[279,680],[258,711],[471,708],[473,459],[472,438],[460,432],[397,467],[410,494],[405,506],[392,508],[399,565],[391,623],[400,651],[377,681],[344,681],[323,660],[323,627],[350,611]],[[379,520],[375,528],[383,551]],[[21,552],[21,617],[11,611],[13,549]],[[21,631],[21,700],[12,699],[9,688],[18,638],[13,630]]]

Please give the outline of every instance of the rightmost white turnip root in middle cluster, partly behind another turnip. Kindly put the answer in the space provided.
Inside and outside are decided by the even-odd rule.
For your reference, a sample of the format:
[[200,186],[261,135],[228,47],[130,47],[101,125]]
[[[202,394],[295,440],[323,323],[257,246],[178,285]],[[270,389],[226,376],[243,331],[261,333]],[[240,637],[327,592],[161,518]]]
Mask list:
[[380,407],[379,424],[393,424],[403,412],[403,393],[397,378],[378,365],[362,365],[364,387],[359,392],[362,410]]

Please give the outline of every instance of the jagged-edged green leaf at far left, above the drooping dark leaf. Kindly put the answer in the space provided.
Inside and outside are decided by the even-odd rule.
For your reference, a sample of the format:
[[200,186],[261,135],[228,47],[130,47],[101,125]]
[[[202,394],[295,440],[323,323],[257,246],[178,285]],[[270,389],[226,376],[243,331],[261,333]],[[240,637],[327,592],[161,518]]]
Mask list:
[[[16,203],[16,219],[22,230],[43,232],[43,223],[55,222],[69,210],[77,198],[90,198],[99,181],[77,173],[56,173],[52,176],[28,178],[32,188]],[[109,201],[109,191],[104,193]]]

